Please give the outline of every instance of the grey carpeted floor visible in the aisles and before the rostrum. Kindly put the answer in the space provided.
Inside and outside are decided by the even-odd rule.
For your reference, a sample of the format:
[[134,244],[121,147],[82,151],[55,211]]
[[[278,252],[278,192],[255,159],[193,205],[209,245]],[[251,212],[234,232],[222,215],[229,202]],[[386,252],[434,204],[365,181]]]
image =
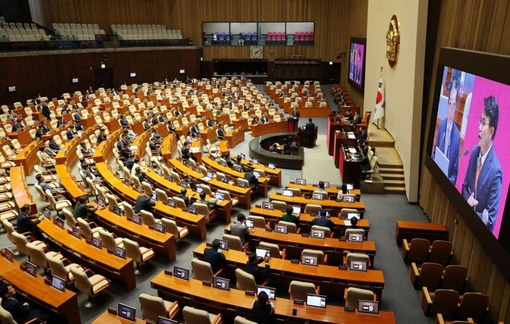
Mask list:
[[[262,87],[261,87],[262,88]],[[329,94],[329,86],[324,89],[329,96],[329,100],[333,103],[331,95]],[[304,125],[306,119],[301,119],[300,125]],[[305,149],[305,166],[303,168],[303,176],[309,182],[317,182],[320,179],[329,179],[334,184],[340,184],[340,174],[334,168],[333,158],[327,155],[325,151],[325,133],[327,128],[327,121],[323,119],[314,119],[314,123],[318,125],[319,140],[318,146],[315,149]],[[251,140],[250,133],[246,133],[245,140],[240,145],[234,147],[232,154],[247,152],[248,142]],[[325,153],[325,155],[324,155]],[[331,165],[333,165],[331,167]],[[73,173],[77,175],[76,168],[73,168]],[[296,170],[283,170],[282,184],[286,184],[294,179],[302,177],[301,171]],[[77,175],[79,179],[79,175]],[[28,177],[27,182],[33,184],[35,179]],[[39,196],[33,186],[30,187],[32,195],[37,200],[39,210],[42,210],[47,203],[39,200]],[[269,195],[272,192],[281,190],[270,186]],[[259,204],[262,197],[254,199],[255,203]],[[425,318],[421,308],[419,294],[413,289],[409,279],[409,269],[404,264],[400,251],[394,240],[395,224],[398,219],[405,219],[409,221],[428,221],[422,210],[417,205],[412,205],[407,202],[405,195],[368,195],[363,194],[361,200],[366,203],[366,218],[370,220],[370,234],[368,239],[374,240],[377,245],[377,253],[374,262],[375,269],[384,271],[385,288],[383,290],[383,298],[381,303],[382,310],[390,310],[395,312],[396,322],[401,324],[425,324],[427,322],[433,323],[433,319],[429,321]],[[239,212],[248,214],[246,209],[233,210],[232,216]],[[223,234],[223,227],[225,223],[218,223],[212,228],[207,229],[207,242],[211,242],[214,238],[220,238]],[[84,308],[84,302],[87,297],[81,292],[78,293],[78,301],[80,308],[81,321],[83,323],[90,323],[94,318],[99,316],[105,311],[107,307],[116,308],[119,302],[125,303],[129,306],[137,308],[137,314],[140,314],[140,303],[138,295],[142,292],[155,295],[155,290],[151,289],[150,281],[157,273],[163,269],[171,269],[174,265],[183,266],[190,269],[190,260],[192,260],[192,250],[199,245],[201,241],[196,238],[188,236],[184,241],[177,242],[177,260],[169,263],[166,258],[156,257],[151,260],[150,265],[142,268],[143,273],[136,277],[137,286],[131,292],[126,292],[125,288],[113,282],[110,288],[101,293],[99,303],[95,308]],[[0,234],[0,247],[11,245],[4,233]],[[57,250],[56,247],[51,247],[51,250]],[[25,258],[16,257],[19,261],[23,262]],[[42,271],[40,271],[42,273]]]

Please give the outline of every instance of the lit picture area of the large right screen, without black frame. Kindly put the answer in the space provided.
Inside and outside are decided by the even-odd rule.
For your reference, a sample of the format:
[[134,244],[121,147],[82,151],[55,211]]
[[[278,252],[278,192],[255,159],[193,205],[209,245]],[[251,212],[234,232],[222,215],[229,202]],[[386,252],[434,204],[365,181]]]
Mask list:
[[444,66],[432,158],[498,238],[510,181],[510,86]]

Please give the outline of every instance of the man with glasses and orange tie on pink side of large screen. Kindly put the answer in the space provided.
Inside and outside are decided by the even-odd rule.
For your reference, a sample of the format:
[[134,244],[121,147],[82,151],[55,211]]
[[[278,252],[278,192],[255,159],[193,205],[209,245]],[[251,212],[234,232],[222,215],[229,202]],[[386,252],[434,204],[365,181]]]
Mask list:
[[480,119],[478,145],[470,156],[462,196],[492,232],[501,198],[502,171],[492,146],[498,129],[499,105],[495,97],[485,99]]

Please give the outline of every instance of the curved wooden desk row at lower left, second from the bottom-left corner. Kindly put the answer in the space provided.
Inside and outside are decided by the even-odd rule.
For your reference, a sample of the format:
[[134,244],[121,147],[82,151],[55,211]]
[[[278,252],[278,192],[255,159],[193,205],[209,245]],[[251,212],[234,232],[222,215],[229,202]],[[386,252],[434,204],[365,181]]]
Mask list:
[[60,229],[47,219],[43,219],[37,226],[49,240],[72,256],[79,258],[79,264],[93,268],[108,278],[123,282],[127,290],[136,287],[135,269],[131,258],[121,259],[109,253],[105,248],[92,247],[85,241],[85,238],[75,238],[67,232],[67,229]]

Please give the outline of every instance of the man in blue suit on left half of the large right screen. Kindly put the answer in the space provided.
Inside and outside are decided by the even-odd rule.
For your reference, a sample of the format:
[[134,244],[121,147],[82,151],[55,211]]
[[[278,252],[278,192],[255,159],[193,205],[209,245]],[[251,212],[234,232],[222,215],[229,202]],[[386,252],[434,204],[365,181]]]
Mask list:
[[453,79],[448,95],[448,115],[439,123],[437,137],[432,158],[435,158],[435,150],[439,149],[448,158],[448,179],[455,186],[459,173],[459,146],[460,134],[457,125],[453,122],[455,109],[457,108],[457,94],[459,93],[459,82]]

